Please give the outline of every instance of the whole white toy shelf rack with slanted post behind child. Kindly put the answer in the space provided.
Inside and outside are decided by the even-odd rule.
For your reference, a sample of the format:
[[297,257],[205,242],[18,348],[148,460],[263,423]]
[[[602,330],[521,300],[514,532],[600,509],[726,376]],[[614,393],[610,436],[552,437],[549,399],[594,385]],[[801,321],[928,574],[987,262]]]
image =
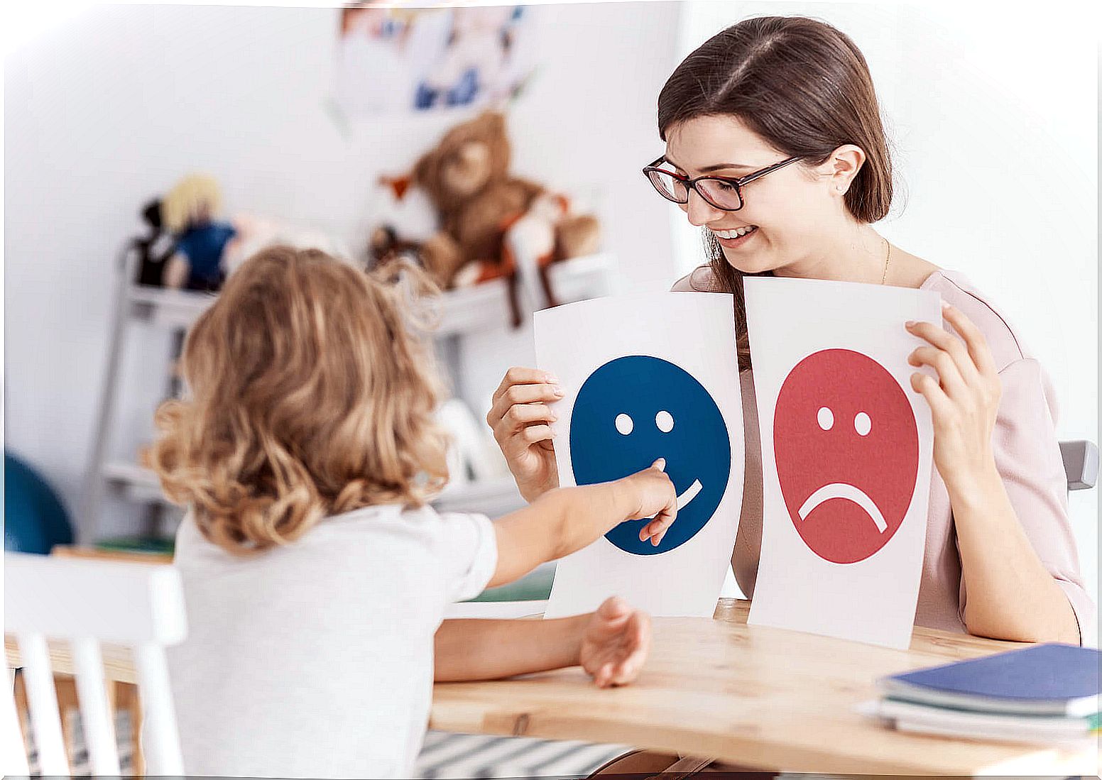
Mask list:
[[[217,297],[213,293],[134,284],[131,281],[134,270],[133,264],[128,262],[120,269],[116,285],[107,372],[77,517],[77,541],[86,545],[100,541],[100,518],[107,496],[147,506],[171,506],[161,492],[153,472],[132,461],[110,461],[107,457],[128,325],[140,322],[169,329],[186,329]],[[614,259],[608,253],[555,263],[549,270],[553,289],[563,302],[609,294],[613,292],[613,272]],[[444,292],[440,296],[439,325],[433,337],[451,354],[453,361],[460,359],[456,356],[461,355],[463,336],[510,327],[506,301],[504,280]],[[440,511],[477,511],[490,517],[522,505],[523,500],[511,478],[456,484],[445,488],[433,501]]]

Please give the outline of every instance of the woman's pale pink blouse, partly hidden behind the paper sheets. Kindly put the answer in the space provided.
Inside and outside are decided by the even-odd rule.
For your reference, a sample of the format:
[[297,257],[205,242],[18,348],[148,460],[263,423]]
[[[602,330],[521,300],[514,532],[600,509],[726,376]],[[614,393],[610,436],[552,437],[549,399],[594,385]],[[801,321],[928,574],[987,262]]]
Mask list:
[[[1079,620],[1080,641],[1093,637],[1096,609],[1083,587],[1076,540],[1068,520],[1067,477],[1056,438],[1056,397],[1048,375],[1022,345],[1006,319],[959,273],[934,271],[922,283],[962,311],[983,332],[1002,380],[995,422],[995,464],[1018,521],[1041,563],[1063,589]],[[677,292],[717,292],[707,266],[680,279]],[[731,565],[738,587],[754,595],[761,549],[761,454],[753,371],[741,373],[746,440],[746,474],[738,535]],[[933,468],[926,555],[915,624],[966,633],[968,593],[953,531],[946,485]]]

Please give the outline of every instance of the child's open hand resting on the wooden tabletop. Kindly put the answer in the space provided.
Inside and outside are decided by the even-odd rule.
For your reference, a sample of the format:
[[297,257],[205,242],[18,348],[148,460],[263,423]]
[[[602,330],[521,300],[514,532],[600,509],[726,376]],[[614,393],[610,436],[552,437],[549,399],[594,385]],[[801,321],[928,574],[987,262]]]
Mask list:
[[613,596],[590,616],[579,660],[597,687],[625,685],[639,676],[649,650],[650,616]]

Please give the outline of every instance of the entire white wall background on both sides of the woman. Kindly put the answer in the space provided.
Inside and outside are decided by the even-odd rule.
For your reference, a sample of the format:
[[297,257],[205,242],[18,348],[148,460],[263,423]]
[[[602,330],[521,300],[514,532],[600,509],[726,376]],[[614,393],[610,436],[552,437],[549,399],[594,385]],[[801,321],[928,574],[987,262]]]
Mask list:
[[[568,188],[599,186],[625,288],[662,289],[700,257],[680,212],[638,173],[661,149],[655,101],[666,77],[746,15],[835,23],[864,50],[899,149],[908,197],[885,234],[988,291],[1054,377],[1060,435],[1098,441],[1096,19],[1078,6],[1046,9],[1027,18],[975,3],[541,7],[545,64],[512,112],[515,167]],[[71,508],[100,391],[111,268],[144,199],[206,169],[231,209],[352,229],[367,218],[379,169],[401,170],[452,121],[342,134],[326,108],[336,25],[334,9],[99,8],[7,57],[6,437]],[[123,451],[148,435],[160,392],[160,366],[148,364],[165,347],[156,333],[134,340]],[[463,380],[482,413],[504,369],[531,362],[530,335],[468,346]],[[1073,494],[1072,510],[1096,592],[1098,490]]]

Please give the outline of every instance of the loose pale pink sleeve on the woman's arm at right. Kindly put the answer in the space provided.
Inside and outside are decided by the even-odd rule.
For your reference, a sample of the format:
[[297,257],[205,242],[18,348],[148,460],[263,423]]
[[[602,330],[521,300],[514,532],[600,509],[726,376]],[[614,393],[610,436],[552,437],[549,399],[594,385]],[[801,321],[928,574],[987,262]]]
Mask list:
[[[1083,587],[1076,540],[1068,517],[1068,483],[1056,437],[1056,405],[1048,377],[1033,358],[1019,358],[998,373],[1002,399],[992,444],[1018,522],[1041,564],[1071,604],[1079,641],[1093,640],[1096,613]],[[960,618],[964,621],[964,578]]]

